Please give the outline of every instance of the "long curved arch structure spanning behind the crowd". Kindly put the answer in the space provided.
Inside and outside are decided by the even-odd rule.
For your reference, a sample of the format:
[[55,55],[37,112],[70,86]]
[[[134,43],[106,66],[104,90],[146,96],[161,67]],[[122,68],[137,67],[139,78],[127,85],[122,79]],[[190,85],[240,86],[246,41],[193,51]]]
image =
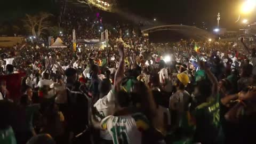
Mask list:
[[186,26],[186,25],[163,25],[163,26],[151,26],[151,27],[142,27],[141,32],[143,35],[147,35],[150,33],[154,33],[155,31],[161,30],[171,30],[175,31],[175,33],[180,33],[182,35],[186,35],[186,37],[200,39],[200,40],[207,40],[209,38],[216,38],[215,35],[209,33],[204,29],[200,29],[193,26]]

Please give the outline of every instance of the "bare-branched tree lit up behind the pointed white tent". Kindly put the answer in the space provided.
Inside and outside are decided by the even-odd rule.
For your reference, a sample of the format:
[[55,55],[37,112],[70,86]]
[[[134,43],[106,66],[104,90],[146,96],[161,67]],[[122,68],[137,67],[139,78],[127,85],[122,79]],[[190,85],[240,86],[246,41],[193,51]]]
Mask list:
[[26,14],[26,19],[23,20],[25,27],[33,36],[40,37],[45,34],[47,29],[50,29],[50,20],[53,15],[51,13],[41,12],[36,15]]

